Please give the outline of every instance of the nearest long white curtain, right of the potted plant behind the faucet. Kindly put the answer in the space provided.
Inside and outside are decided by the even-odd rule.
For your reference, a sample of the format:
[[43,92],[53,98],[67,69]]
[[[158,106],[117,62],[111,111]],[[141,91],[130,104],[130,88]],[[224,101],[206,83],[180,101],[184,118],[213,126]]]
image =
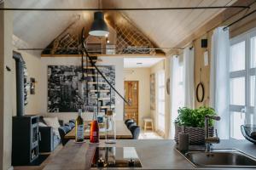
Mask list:
[[221,120],[216,122],[220,139],[230,137],[230,83],[229,83],[229,56],[230,35],[223,27],[213,31],[211,47],[210,73],[210,106],[215,109]]

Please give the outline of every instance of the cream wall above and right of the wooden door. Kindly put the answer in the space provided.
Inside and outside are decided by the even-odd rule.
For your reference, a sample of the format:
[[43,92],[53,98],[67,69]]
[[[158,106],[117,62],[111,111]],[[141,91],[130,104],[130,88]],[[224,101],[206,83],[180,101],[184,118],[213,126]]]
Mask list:
[[143,127],[143,117],[150,117],[150,68],[125,69],[125,81],[139,82],[139,126]]

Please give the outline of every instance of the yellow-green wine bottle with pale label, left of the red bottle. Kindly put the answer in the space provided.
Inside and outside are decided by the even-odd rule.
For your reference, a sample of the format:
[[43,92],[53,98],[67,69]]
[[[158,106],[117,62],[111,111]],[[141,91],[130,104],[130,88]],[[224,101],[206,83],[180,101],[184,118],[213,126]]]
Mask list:
[[76,142],[84,142],[84,120],[81,115],[82,115],[82,110],[79,109],[79,116],[76,120],[76,127],[75,127]]

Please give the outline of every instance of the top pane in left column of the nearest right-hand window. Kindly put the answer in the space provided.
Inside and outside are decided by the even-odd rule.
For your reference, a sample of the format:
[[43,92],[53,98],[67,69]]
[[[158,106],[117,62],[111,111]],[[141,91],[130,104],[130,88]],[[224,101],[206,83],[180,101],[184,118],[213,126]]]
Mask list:
[[239,42],[230,48],[230,71],[245,70],[245,42]]

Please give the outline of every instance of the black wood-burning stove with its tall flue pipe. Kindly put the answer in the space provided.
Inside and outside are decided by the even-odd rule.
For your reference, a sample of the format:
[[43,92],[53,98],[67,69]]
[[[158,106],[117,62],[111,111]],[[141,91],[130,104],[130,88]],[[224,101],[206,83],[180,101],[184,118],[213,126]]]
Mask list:
[[38,158],[38,116],[25,116],[24,112],[24,60],[14,52],[16,65],[17,116],[13,116],[12,165],[30,165]]

